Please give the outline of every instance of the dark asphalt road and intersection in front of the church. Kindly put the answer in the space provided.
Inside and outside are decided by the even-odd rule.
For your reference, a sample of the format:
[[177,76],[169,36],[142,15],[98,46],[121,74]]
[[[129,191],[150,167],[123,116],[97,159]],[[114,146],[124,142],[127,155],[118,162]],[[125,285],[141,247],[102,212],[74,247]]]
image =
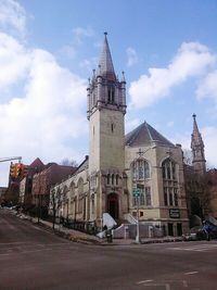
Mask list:
[[0,290],[215,290],[217,241],[86,245],[0,210]]

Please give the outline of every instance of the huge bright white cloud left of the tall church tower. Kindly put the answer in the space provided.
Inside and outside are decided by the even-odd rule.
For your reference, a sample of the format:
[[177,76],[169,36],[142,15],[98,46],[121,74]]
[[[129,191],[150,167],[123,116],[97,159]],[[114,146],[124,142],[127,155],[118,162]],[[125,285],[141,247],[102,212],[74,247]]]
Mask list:
[[[15,61],[0,53],[0,63],[12,67],[11,77],[0,73],[1,84],[13,96],[0,104],[1,155],[22,155],[24,162],[37,156],[47,162],[80,157],[76,140],[88,131],[86,80],[60,66],[50,52],[26,49],[12,37],[5,39],[14,48],[9,54],[18,53]],[[25,85],[17,96],[11,85],[18,81],[20,74]]]

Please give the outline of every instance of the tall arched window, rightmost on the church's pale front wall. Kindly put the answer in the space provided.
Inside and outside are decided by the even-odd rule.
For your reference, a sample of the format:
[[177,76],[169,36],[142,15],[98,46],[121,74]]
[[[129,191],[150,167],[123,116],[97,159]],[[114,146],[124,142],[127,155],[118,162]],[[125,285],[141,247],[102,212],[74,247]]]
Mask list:
[[178,180],[176,163],[166,159],[162,163],[162,177],[164,185],[164,205],[178,206]]

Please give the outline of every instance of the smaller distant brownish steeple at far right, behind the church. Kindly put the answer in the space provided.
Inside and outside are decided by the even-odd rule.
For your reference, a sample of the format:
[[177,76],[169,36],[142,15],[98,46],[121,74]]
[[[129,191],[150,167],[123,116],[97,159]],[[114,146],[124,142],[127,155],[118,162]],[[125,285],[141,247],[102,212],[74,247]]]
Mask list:
[[196,124],[196,115],[193,114],[193,134],[191,135],[191,149],[193,153],[193,167],[199,174],[205,174],[206,160],[204,156],[204,142]]

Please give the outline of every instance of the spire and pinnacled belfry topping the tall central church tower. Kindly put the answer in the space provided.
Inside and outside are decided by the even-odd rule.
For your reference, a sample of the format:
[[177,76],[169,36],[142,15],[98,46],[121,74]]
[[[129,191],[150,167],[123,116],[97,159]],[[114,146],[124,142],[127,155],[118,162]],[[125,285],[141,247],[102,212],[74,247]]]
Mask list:
[[126,113],[126,80],[119,81],[113,66],[107,33],[104,33],[102,52],[99,60],[98,70],[93,70],[93,75],[87,88],[88,110],[87,117],[102,108],[106,110],[120,111]]

